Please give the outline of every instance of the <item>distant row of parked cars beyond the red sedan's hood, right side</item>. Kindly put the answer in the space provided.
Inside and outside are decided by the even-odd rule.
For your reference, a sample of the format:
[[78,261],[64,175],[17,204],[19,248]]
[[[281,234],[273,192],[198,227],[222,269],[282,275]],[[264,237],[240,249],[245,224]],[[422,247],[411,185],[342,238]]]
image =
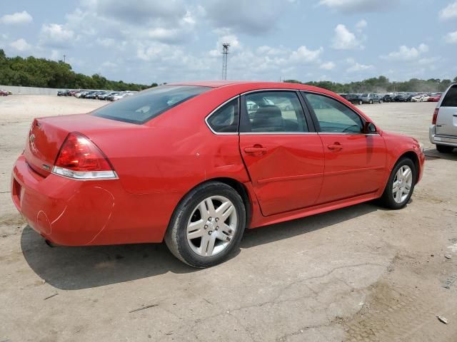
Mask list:
[[383,102],[438,102],[441,93],[388,93],[384,95],[376,93],[363,94],[340,94],[351,103],[362,105],[363,103]]

